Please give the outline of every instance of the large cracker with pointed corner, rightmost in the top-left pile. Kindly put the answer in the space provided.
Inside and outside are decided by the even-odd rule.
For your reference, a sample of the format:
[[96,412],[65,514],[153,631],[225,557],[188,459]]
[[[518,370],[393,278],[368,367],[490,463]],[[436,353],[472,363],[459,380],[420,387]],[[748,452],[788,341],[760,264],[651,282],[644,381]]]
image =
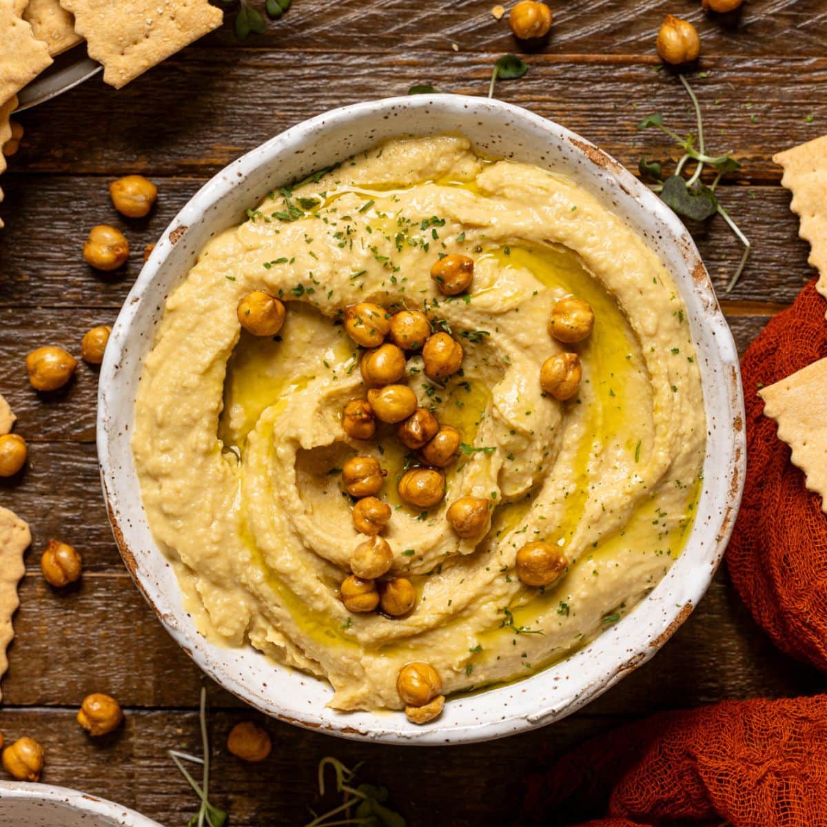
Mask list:
[[60,0],[74,14],[103,80],[121,88],[139,74],[221,26],[208,0]]

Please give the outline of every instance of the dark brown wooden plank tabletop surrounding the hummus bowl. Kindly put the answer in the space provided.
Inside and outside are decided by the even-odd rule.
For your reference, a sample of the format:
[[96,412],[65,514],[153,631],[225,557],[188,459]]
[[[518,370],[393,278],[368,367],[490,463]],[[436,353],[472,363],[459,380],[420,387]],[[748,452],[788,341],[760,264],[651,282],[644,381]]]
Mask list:
[[[631,169],[644,153],[676,158],[661,133],[635,129],[641,117],[664,112],[681,131],[692,128],[680,84],[657,70],[653,44],[663,14],[699,27],[705,76],[693,84],[707,143],[733,148],[743,161],[721,197],[755,246],[740,284],[722,303],[743,350],[812,275],[772,154],[827,131],[827,0],[753,0],[737,23],[710,20],[688,0],[550,2],[552,40],[528,56],[523,79],[499,84],[497,94],[580,132]],[[45,782],[184,825],[195,798],[165,751],[197,748],[203,678],[138,594],[112,542],[95,457],[95,370],[81,365],[65,393],[41,399],[26,382],[26,352],[55,343],[78,354],[88,327],[114,321],[144,245],[205,179],[284,128],[417,83],[485,94],[495,59],[515,50],[492,5],[294,0],[266,36],[239,45],[230,31],[218,31],[119,92],[93,79],[22,114],[26,138],[2,178],[0,393],[17,412],[31,460],[22,480],[0,483],[0,501],[31,522],[34,542],[0,730],[43,743]],[[127,221],[113,211],[107,183],[135,172],[151,176],[160,197],[149,218]],[[114,275],[93,272],[81,258],[88,228],[98,222],[122,227],[131,241],[130,261]],[[719,219],[691,229],[723,294],[740,248]],[[58,593],[43,581],[39,558],[51,537],[82,552],[79,588]],[[391,788],[414,827],[508,824],[543,749],[561,753],[656,710],[825,686],[825,676],[772,648],[721,571],[652,662],[583,712],[492,743],[394,748],[265,721],[273,753],[259,766],[245,765],[226,752],[224,739],[251,713],[208,682],[212,797],[231,810],[237,827],[301,825],[316,800],[317,762],[331,754],[365,762],[365,777]],[[126,725],[98,741],[74,722],[92,691],[111,693],[127,711]]]

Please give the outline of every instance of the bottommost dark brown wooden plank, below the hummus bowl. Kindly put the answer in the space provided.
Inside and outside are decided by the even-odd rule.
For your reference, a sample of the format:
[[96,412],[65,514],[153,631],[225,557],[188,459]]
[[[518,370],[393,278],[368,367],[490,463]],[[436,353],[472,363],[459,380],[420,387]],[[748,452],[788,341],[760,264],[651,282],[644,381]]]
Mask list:
[[[273,739],[270,758],[260,764],[241,762],[225,746],[232,726],[251,718]],[[241,710],[213,710],[210,799],[229,810],[232,827],[304,825],[313,817],[308,806],[320,804],[318,761],[332,755],[351,767],[365,762],[361,780],[387,786],[412,827],[433,823],[435,815],[439,824],[452,827],[508,824],[519,812],[524,779],[536,771],[541,752],[560,754],[614,723],[619,721],[578,715],[531,734],[446,751],[353,743]],[[194,793],[166,753],[170,748],[201,753],[194,712],[127,710],[122,729],[98,740],[79,728],[74,710],[6,710],[0,712],[0,726],[7,739],[31,734],[43,745],[44,782],[116,800],[170,827],[185,825],[197,810]],[[483,789],[484,795],[467,794]],[[341,799],[325,799],[318,812],[338,803]]]

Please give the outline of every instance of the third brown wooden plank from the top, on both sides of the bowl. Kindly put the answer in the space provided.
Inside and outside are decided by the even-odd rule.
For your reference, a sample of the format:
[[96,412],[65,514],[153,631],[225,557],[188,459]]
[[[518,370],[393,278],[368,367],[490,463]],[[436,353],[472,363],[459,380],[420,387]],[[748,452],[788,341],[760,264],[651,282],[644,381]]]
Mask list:
[[[111,321],[117,316],[132,282],[141,270],[144,246],[164,231],[175,213],[203,184],[202,179],[156,179],[160,195],[146,219],[125,219],[115,212],[107,178],[84,176],[3,177],[3,207],[25,220],[8,222],[0,239],[0,355],[35,341],[48,313],[12,311],[12,307],[102,308],[79,314],[49,332],[52,337],[83,335],[79,324]],[[814,271],[807,264],[809,246],[798,238],[798,219],[790,212],[790,194],[772,187],[729,186],[721,192],[734,220],[753,242],[753,254],[740,283],[729,295],[724,288],[737,266],[742,248],[723,220],[691,223],[700,254],[721,298],[789,304]],[[56,203],[68,208],[55,210]],[[7,213],[9,214],[9,213]],[[127,235],[130,260],[107,275],[92,270],[81,249],[89,227],[112,223]],[[103,308],[106,308],[105,310]],[[60,316],[65,318],[65,315]],[[65,324],[75,327],[66,329]],[[12,370],[0,360],[0,382]]]

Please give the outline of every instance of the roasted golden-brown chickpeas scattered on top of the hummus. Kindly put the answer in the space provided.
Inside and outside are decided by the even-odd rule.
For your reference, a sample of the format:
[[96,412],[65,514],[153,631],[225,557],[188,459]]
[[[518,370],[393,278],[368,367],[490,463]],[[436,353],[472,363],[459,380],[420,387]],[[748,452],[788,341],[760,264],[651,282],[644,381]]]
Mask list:
[[[434,262],[431,278],[444,295],[466,293],[474,279],[474,260],[456,253],[442,256]],[[285,316],[284,303],[261,290],[246,294],[237,307],[241,327],[254,336],[274,336],[284,326]],[[567,297],[555,304],[548,332],[557,342],[572,344],[588,338],[594,323],[590,304]],[[378,304],[361,302],[346,309],[344,327],[353,342],[364,348],[359,366],[367,390],[365,398],[351,399],[345,405],[342,429],[351,439],[364,441],[374,437],[378,423],[394,425],[399,442],[416,452],[420,463],[400,477],[399,497],[418,509],[432,508],[445,497],[444,469],[457,457],[461,434],[439,423],[429,409],[418,407],[414,391],[401,383],[408,356],[418,351],[425,375],[444,382],[460,370],[462,346],[446,332],[433,332],[428,316],[414,308],[389,313]],[[543,362],[539,381],[545,394],[564,401],[576,394],[581,375],[580,357],[565,351]],[[380,534],[393,510],[379,497],[387,474],[378,460],[363,455],[351,457],[342,466],[342,487],[356,500],[353,526],[365,539],[351,552],[351,574],[342,581],[339,597],[354,614],[378,609],[387,617],[399,618],[414,609],[416,589],[407,577],[389,575],[394,553]],[[462,496],[448,506],[446,519],[457,537],[479,539],[488,530],[490,509],[490,500]],[[567,565],[566,557],[551,543],[526,543],[516,557],[520,581],[532,587],[550,585]],[[414,723],[427,723],[442,712],[442,679],[430,664],[406,665],[399,672],[397,688],[405,714]]]

